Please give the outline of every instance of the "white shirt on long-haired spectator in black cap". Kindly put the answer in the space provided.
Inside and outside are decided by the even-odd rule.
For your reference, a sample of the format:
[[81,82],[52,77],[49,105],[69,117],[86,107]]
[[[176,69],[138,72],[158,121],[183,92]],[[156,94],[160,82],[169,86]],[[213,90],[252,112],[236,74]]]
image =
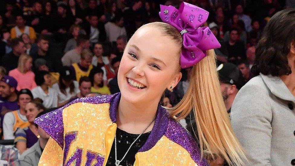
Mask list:
[[64,101],[71,99],[73,96],[76,96],[76,94],[80,92],[78,81],[73,81],[73,83],[74,83],[74,86],[75,86],[74,92],[70,93],[70,87],[67,87],[65,89],[66,94],[63,94],[60,91],[60,87],[58,86],[58,83],[55,83],[55,84],[52,85],[52,88],[55,89],[57,91],[57,93],[58,93],[58,103],[63,103]]

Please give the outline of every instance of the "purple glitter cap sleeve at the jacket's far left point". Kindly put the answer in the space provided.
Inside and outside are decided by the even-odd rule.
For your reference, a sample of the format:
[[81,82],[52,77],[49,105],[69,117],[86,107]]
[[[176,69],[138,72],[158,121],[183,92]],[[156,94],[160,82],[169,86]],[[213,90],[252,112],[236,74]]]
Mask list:
[[63,148],[63,108],[44,114],[34,122]]

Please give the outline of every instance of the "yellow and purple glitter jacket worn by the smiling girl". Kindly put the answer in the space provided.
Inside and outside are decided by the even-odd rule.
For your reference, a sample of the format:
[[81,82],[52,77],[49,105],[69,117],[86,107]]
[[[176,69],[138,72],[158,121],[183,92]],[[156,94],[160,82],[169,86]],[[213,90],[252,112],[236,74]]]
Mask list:
[[[39,165],[105,166],[115,138],[121,94],[86,97],[35,120],[51,137]],[[135,155],[135,166],[208,165],[192,136],[158,106],[148,140]]]

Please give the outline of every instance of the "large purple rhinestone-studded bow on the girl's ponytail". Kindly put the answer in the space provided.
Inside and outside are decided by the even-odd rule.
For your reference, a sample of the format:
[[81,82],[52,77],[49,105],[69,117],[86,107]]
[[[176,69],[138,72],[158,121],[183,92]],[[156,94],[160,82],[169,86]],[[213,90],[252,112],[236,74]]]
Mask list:
[[200,27],[206,22],[208,11],[186,2],[182,2],[178,10],[165,5],[160,5],[160,10],[162,21],[175,27],[183,36],[180,55],[183,69],[202,60],[206,56],[206,50],[221,47],[209,27]]

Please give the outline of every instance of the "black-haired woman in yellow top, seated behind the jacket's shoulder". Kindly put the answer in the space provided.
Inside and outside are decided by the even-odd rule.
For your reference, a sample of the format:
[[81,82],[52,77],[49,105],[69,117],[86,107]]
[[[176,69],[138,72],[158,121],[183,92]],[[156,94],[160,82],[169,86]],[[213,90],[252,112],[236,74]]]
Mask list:
[[100,94],[111,94],[109,88],[103,84],[103,70],[100,68],[93,68],[90,71],[89,79],[91,81],[91,92]]

